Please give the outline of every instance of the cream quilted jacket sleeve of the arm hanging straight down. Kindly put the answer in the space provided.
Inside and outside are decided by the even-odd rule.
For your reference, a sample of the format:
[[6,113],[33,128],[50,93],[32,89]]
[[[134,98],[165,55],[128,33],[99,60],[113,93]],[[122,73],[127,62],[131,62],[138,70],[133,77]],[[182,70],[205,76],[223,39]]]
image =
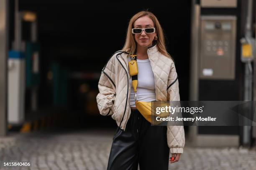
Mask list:
[[[179,82],[174,62],[172,62],[169,73],[167,94],[170,102],[180,101]],[[167,125],[167,143],[170,148],[170,153],[183,153],[185,145],[184,127]]]

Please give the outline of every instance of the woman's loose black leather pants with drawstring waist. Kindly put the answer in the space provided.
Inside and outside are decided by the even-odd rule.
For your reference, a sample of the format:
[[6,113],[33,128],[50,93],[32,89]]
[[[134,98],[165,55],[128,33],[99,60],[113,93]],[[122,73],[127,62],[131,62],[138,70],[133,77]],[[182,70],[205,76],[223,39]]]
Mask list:
[[151,126],[138,110],[113,137],[108,170],[168,170],[166,126]]

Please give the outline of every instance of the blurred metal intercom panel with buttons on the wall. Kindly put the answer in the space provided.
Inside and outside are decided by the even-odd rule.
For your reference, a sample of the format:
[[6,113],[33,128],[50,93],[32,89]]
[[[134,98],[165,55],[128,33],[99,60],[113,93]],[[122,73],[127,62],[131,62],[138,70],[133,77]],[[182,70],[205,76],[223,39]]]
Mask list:
[[201,16],[200,79],[234,80],[236,17]]

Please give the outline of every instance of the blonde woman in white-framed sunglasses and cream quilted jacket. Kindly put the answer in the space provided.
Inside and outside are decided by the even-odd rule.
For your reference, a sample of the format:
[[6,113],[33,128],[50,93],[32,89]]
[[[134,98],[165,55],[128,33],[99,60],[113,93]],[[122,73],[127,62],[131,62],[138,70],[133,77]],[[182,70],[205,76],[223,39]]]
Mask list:
[[[148,28],[148,29],[147,29]],[[118,128],[108,160],[108,170],[168,170],[183,153],[183,126],[151,126],[136,110],[128,62],[137,54],[138,101],[179,101],[174,62],[166,52],[164,35],[154,14],[141,11],[128,25],[122,50],[102,69],[97,95],[101,115],[111,115]],[[166,135],[167,132],[167,135]]]

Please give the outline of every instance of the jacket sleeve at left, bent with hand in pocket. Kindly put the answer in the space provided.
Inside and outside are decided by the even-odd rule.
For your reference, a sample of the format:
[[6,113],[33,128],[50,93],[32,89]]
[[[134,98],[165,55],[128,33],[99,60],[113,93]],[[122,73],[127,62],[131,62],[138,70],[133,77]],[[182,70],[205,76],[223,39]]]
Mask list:
[[100,80],[98,84],[99,93],[96,99],[100,114],[108,116],[113,115],[112,108],[115,102],[116,90],[114,82],[115,79],[111,77],[111,75],[114,75],[114,72],[111,72],[113,64],[107,64],[105,67],[103,68],[100,75]]

